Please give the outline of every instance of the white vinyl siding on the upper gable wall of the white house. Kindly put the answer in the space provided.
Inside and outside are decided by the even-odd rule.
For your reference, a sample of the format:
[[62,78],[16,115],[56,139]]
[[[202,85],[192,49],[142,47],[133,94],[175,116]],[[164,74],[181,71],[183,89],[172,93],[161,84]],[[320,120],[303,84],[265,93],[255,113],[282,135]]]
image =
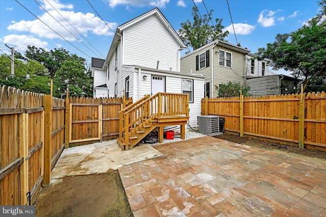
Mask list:
[[123,64],[178,71],[180,45],[156,15],[123,31]]

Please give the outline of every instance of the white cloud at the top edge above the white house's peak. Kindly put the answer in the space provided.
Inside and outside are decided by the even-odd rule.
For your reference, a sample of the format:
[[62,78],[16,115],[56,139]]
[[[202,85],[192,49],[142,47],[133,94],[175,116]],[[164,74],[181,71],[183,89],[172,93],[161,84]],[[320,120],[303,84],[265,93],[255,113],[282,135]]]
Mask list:
[[118,5],[132,5],[137,7],[144,6],[154,6],[158,8],[165,8],[165,5],[170,2],[170,0],[105,0],[111,8],[115,8]]

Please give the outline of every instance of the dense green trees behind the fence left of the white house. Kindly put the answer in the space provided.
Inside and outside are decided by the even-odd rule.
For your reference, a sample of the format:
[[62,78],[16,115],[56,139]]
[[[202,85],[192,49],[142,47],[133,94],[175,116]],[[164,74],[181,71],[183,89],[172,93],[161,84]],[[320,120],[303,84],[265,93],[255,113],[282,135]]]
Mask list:
[[[22,90],[50,94],[48,83],[53,80],[53,96],[60,98],[69,88],[69,96],[93,97],[91,71],[86,59],[69,54],[63,48],[46,51],[28,46],[25,57],[16,52],[15,75],[11,76],[11,59],[0,56],[0,84]],[[26,74],[30,79],[25,79]]]

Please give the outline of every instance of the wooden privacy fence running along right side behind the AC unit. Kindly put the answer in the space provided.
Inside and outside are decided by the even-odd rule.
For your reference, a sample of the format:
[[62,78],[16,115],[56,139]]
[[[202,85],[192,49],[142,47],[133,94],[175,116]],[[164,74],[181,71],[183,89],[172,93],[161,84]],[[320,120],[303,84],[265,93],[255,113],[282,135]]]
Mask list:
[[202,115],[225,117],[226,132],[326,151],[325,92],[202,99]]

